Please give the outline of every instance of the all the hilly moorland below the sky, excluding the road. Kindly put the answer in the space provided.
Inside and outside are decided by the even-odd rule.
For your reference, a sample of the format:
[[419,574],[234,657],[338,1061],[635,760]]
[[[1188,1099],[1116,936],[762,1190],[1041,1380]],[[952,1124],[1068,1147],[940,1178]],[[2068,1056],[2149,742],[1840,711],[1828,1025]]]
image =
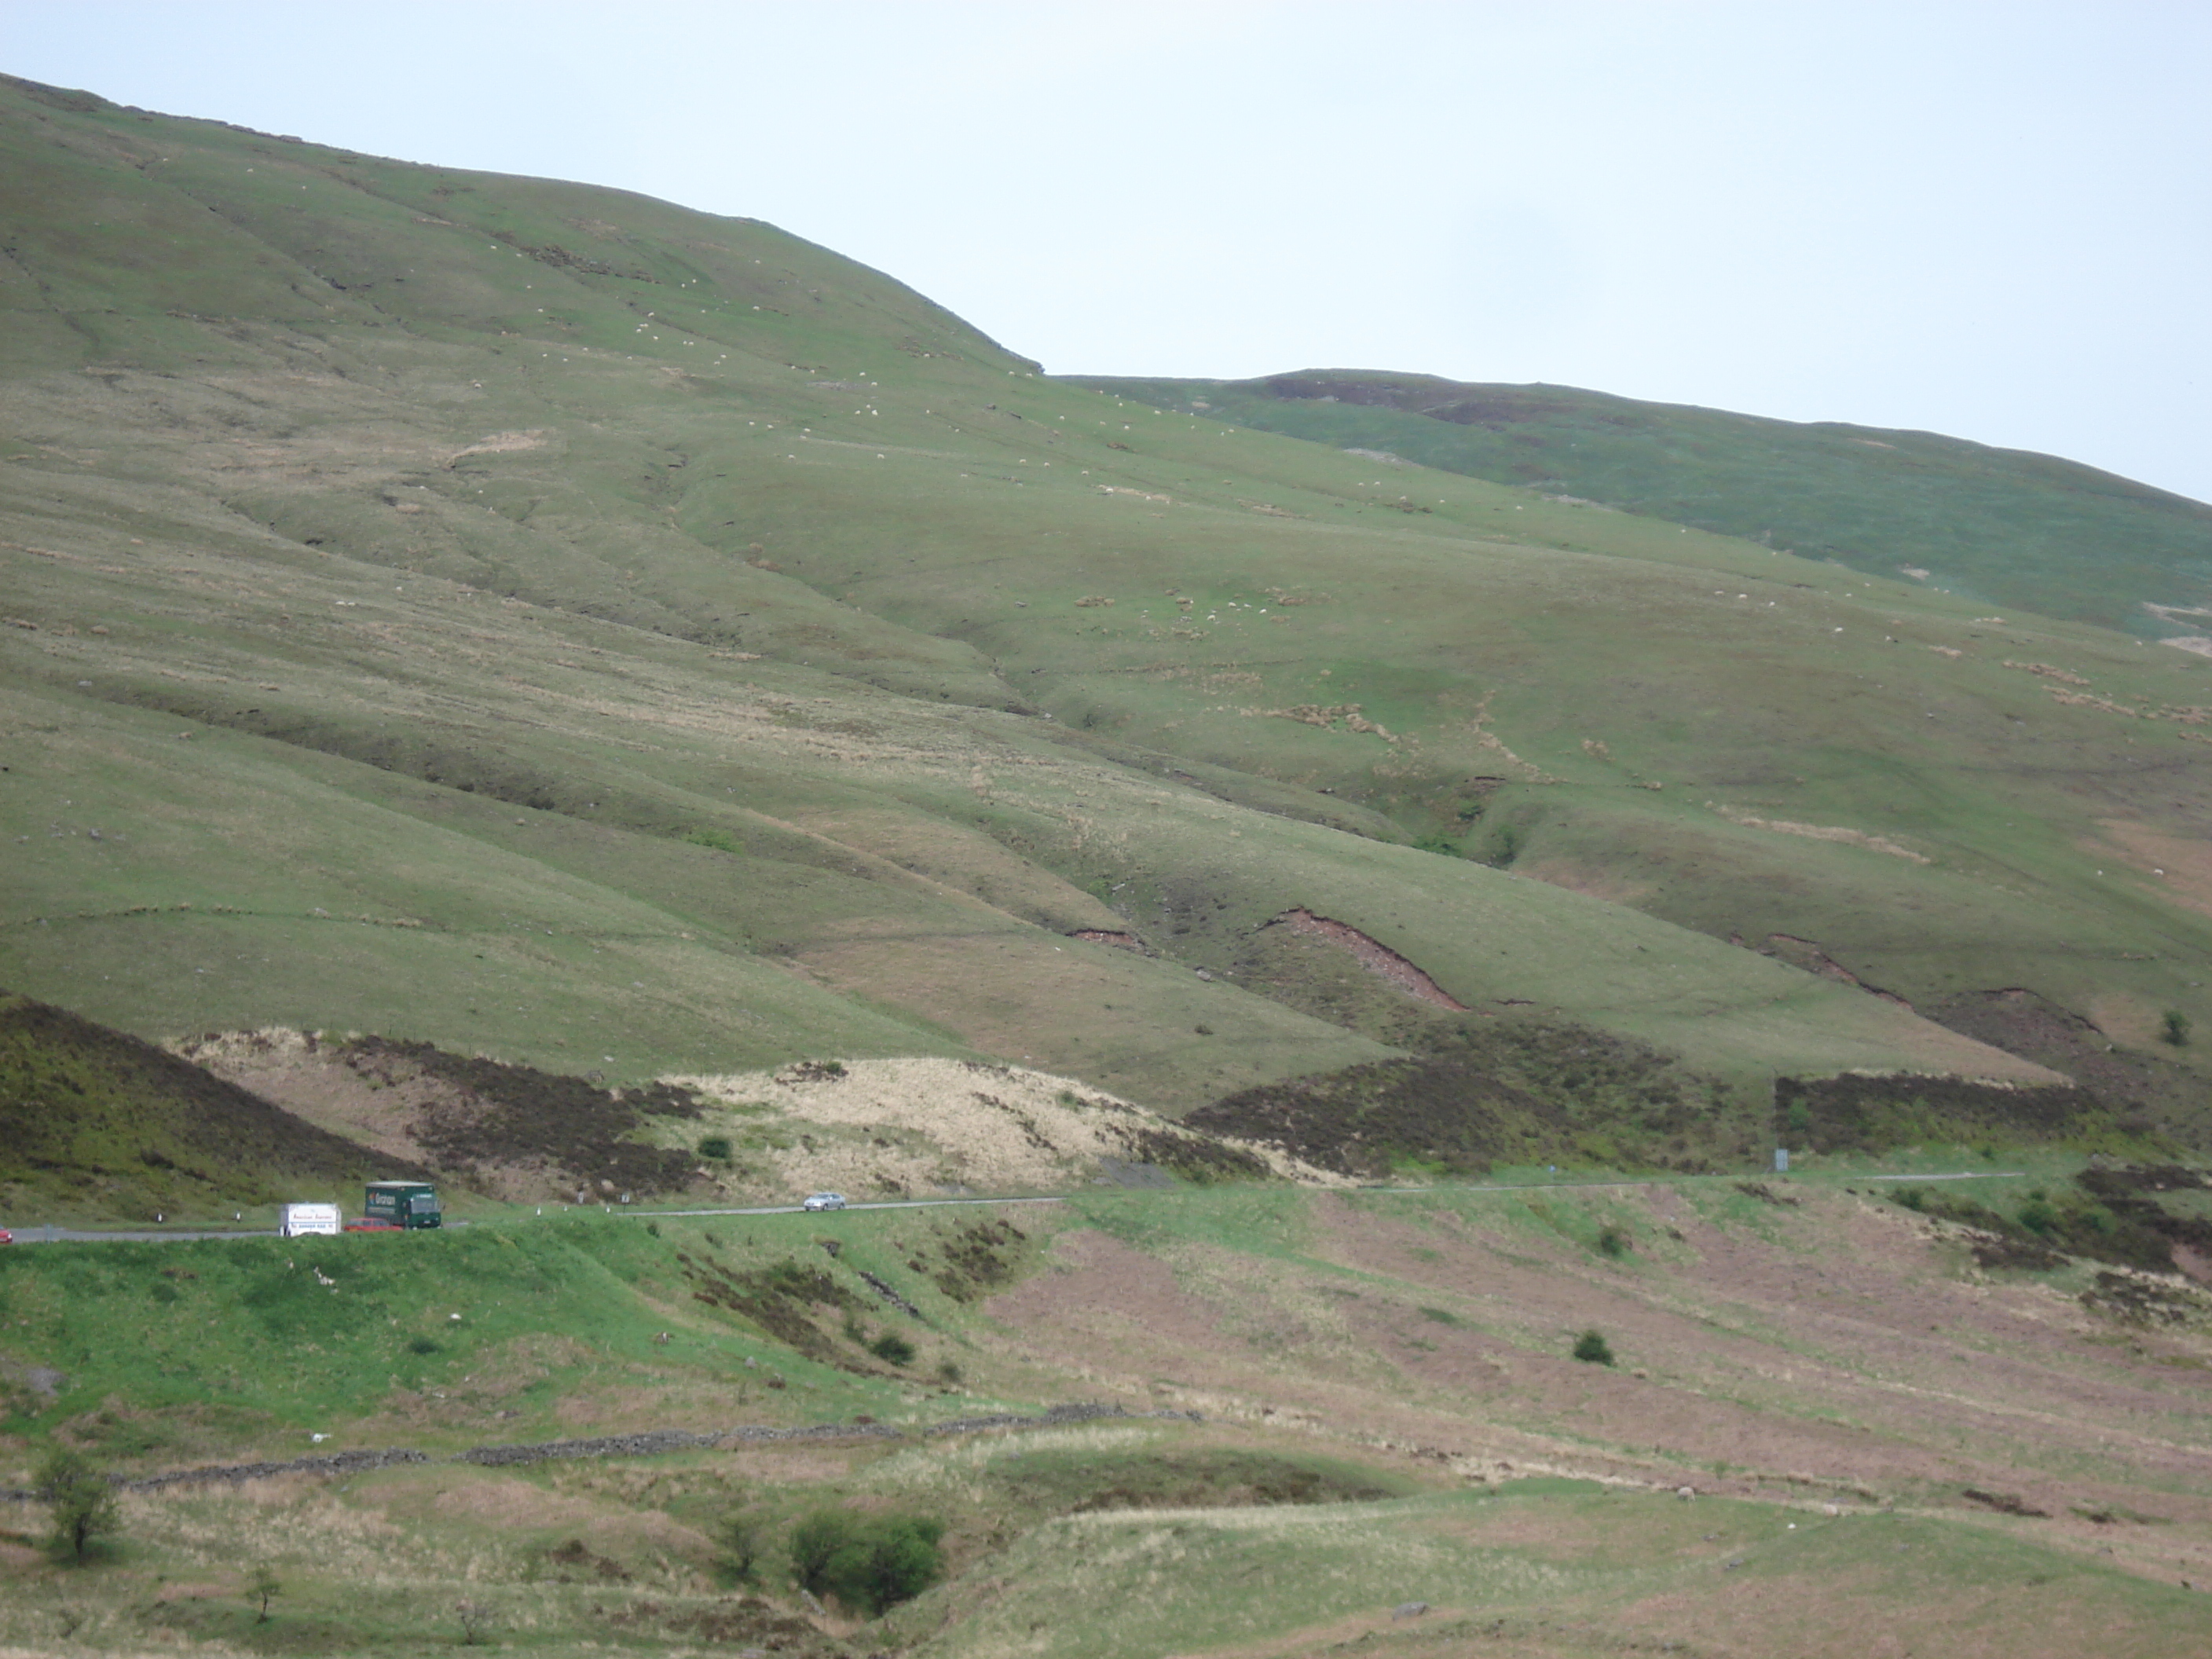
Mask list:
[[0,1646],[2194,1637],[2205,509],[15,80],[0,226],[0,1223],[155,1232]]

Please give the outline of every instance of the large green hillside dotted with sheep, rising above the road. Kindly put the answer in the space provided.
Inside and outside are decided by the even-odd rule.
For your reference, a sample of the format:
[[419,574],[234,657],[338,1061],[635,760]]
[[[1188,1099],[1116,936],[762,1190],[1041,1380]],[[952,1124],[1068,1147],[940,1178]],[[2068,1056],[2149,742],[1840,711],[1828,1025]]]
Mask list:
[[2212,1029],[2212,661],[1053,383],[622,192],[29,84],[0,192],[0,982],[93,1020],[1177,1113],[1522,1013],[1739,1104],[2048,1082],[1913,1011],[1995,991]]

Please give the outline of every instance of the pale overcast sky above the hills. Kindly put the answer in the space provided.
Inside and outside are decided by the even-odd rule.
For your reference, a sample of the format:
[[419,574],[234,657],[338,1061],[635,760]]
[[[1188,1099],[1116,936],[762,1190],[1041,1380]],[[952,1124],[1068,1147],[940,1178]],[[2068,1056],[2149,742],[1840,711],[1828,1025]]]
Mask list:
[[1551,380],[2212,500],[2203,0],[0,0],[0,46],[770,219],[1053,372]]

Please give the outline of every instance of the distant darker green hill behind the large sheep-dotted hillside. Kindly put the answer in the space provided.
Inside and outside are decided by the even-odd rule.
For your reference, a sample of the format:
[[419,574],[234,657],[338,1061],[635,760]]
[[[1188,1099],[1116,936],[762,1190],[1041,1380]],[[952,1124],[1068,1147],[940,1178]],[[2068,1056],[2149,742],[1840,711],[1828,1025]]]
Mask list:
[[1075,385],[1747,535],[1876,577],[1922,571],[1997,608],[2152,639],[2212,633],[2212,507],[2055,456],[1425,374]]

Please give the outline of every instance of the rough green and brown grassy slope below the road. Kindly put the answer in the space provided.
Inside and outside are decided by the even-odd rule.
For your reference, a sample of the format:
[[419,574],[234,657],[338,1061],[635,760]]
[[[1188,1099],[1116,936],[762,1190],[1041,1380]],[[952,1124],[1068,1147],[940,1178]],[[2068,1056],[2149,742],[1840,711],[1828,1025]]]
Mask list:
[[[1206,1422],[184,1489],[133,1500],[93,1573],[0,1553],[0,1639],[53,1648],[75,1610],[91,1650],[354,1652],[425,1615],[458,1637],[453,1601],[480,1599],[544,1652],[695,1650],[686,1621],[739,1610],[712,1577],[723,1513],[761,1522],[790,1608],[787,1526],[849,1504],[945,1520],[953,1568],[854,1652],[1296,1652],[1407,1635],[1389,1610],[1413,1599],[1425,1637],[1482,1652],[1772,1652],[1783,1608],[1792,1652],[1871,1632],[2057,1655],[2090,1626],[2110,1652],[2177,1650],[2197,1608],[2177,1579],[2212,1562],[2203,1298],[2179,1325],[2108,1323],[2073,1301],[2088,1267],[1980,1274],[1847,1181],[1121,1192],[1009,1212],[1022,1237],[993,1221],[982,1252],[978,1212],[24,1248],[0,1259],[0,1484],[55,1436],[128,1471],[294,1455],[310,1431],[456,1451],[1055,1398]],[[1975,1192],[2011,1212],[2031,1186]],[[832,1298],[783,1303],[781,1340],[695,1294],[779,1263]],[[1617,1369],[1566,1358],[1588,1325]],[[883,1329],[918,1343],[911,1365],[863,1349]],[[1683,1482],[1694,1506],[1668,1495]],[[1969,1486],[2046,1515],[1991,1515]],[[571,1537],[586,1555],[562,1566]],[[285,1584],[268,1630],[239,1604],[259,1562]]]

